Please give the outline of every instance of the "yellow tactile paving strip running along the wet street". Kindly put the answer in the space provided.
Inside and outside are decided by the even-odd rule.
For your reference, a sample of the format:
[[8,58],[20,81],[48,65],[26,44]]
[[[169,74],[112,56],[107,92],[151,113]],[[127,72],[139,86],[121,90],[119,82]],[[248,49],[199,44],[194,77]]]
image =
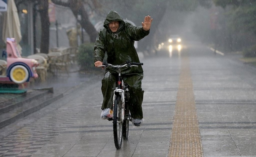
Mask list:
[[168,157],[203,157],[188,56],[181,57]]

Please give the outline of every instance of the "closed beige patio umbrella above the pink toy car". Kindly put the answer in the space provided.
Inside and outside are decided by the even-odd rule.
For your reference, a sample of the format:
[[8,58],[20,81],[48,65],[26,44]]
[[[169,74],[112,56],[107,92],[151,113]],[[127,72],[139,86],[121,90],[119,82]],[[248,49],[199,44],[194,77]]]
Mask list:
[[19,42],[22,38],[20,32],[20,19],[14,0],[7,0],[7,11],[4,15],[4,26],[3,26],[2,39],[6,42],[7,38],[15,38],[18,50],[21,53],[22,48]]

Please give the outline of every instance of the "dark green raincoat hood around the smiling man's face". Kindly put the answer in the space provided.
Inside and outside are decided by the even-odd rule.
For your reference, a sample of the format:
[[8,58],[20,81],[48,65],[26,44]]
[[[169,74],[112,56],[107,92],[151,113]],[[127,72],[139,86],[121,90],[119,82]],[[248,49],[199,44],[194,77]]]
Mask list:
[[113,22],[113,21],[118,21],[118,22],[119,22],[118,31],[123,28],[123,26],[124,26],[124,20],[123,20],[123,18],[122,18],[116,11],[114,11],[114,10],[111,10],[110,12],[108,12],[108,15],[106,16],[105,21],[104,21],[104,24],[103,24],[104,28],[106,28],[106,29],[108,29],[109,31],[111,31],[110,28],[108,27],[108,24],[111,23],[111,22]]

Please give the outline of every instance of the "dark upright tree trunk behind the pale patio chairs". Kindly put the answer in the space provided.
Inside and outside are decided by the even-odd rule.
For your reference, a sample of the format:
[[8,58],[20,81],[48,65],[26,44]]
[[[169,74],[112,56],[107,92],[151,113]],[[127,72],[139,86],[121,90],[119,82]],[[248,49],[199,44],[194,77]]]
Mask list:
[[48,0],[40,1],[40,18],[41,18],[41,42],[40,42],[40,53],[49,52],[49,31],[50,31],[50,21],[48,16]]

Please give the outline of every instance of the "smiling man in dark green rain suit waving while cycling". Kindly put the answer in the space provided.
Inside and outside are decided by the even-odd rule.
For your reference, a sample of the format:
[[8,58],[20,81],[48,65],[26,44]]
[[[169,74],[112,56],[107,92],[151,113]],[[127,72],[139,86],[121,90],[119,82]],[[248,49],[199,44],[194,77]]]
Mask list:
[[[132,26],[124,22],[123,18],[114,10],[111,10],[105,18],[104,29],[99,31],[94,46],[94,65],[101,66],[105,52],[107,53],[107,62],[112,65],[120,65],[125,62],[140,62],[137,51],[134,47],[134,41],[141,40],[149,34],[152,18],[146,16],[142,27]],[[103,102],[102,112],[110,111],[109,114],[102,116],[102,119],[111,118],[113,108],[113,89],[116,87],[115,75],[117,73],[113,68],[106,68],[105,75],[102,79]],[[140,126],[143,119],[142,102],[143,89],[141,80],[143,79],[143,69],[124,68],[122,70],[124,82],[128,84],[130,90],[129,110],[132,116],[132,123]]]

